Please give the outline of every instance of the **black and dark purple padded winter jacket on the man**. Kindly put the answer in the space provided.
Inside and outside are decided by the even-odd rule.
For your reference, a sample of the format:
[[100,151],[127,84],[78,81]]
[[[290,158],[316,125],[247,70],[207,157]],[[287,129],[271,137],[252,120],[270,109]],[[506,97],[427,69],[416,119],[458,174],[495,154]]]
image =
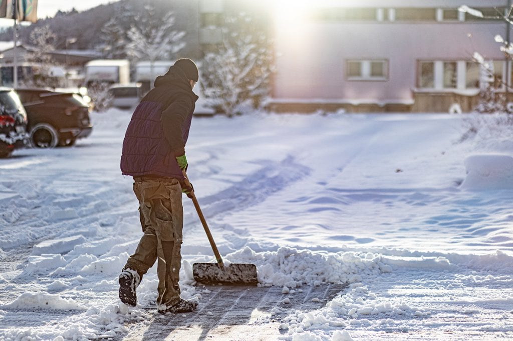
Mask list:
[[184,155],[192,113],[198,100],[185,73],[177,67],[155,79],[128,124],[123,140],[124,175],[182,179],[175,157]]

